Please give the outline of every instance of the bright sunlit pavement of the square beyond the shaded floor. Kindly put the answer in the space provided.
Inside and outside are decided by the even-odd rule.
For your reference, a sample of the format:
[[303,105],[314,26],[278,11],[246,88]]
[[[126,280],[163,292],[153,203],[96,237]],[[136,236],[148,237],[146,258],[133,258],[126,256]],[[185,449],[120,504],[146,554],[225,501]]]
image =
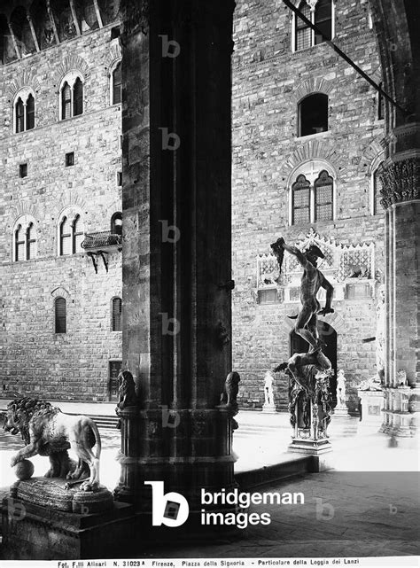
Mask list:
[[[263,414],[244,411],[237,415],[239,429],[234,433],[235,471],[250,471],[276,463],[289,462],[299,454],[287,451],[292,429],[287,413]],[[120,431],[100,429],[102,438],[101,483],[113,489],[119,481],[120,466],[116,461],[120,449]],[[324,456],[328,467],[336,471],[419,471],[418,439],[394,440],[367,427],[358,418],[332,418],[330,427],[333,451]],[[16,480],[10,467],[12,455],[22,447],[19,436],[0,432],[0,486]],[[48,470],[48,459],[31,458],[35,476]]]

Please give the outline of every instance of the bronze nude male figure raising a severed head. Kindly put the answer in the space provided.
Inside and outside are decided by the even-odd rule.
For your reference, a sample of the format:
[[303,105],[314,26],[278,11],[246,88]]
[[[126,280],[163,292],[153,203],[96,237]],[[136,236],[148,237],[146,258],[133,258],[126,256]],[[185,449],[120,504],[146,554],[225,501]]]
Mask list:
[[[318,258],[323,259],[323,252],[316,245],[310,245],[306,251],[299,251],[299,248],[292,245],[286,245],[283,237],[279,237],[276,243],[271,245],[273,253],[276,255],[280,271],[282,269],[284,251],[293,254],[303,267],[303,276],[300,285],[300,301],[302,308],[296,319],[294,331],[304,338],[311,346],[309,353],[321,350],[323,343],[318,336],[316,328],[317,315],[331,314],[334,310],[331,308],[333,287],[323,276],[321,270],[316,268]],[[320,288],[324,288],[327,292],[325,299],[325,307],[321,306],[316,299],[316,294]]]

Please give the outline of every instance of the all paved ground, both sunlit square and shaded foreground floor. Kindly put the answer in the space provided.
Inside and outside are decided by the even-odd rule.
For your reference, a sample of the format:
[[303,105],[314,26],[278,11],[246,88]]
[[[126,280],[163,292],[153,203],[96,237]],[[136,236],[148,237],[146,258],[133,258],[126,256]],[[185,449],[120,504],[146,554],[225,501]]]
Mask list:
[[[105,409],[102,405],[76,408],[68,404],[71,403],[59,405],[67,412],[90,415],[113,412],[113,405]],[[1,401],[0,408],[4,406]],[[287,452],[291,430],[286,414],[240,412],[237,421],[236,471],[283,463],[297,456]],[[139,557],[405,556],[409,560],[408,555],[420,555],[418,441],[390,440],[377,433],[377,427],[350,417],[333,417],[330,433],[334,450],[325,459],[331,471],[253,490],[302,492],[304,505],[253,505],[249,512],[269,513],[270,525],[248,527],[237,537],[222,541],[177,541],[176,546],[155,543]],[[101,480],[113,489],[119,479],[115,456],[120,447],[120,432],[101,429],[101,436]],[[3,494],[15,480],[9,462],[19,447],[21,440],[0,432]],[[35,463],[35,475],[43,475],[48,468],[46,458],[35,456],[31,460]],[[418,565],[415,556],[412,560],[413,564],[404,565]]]

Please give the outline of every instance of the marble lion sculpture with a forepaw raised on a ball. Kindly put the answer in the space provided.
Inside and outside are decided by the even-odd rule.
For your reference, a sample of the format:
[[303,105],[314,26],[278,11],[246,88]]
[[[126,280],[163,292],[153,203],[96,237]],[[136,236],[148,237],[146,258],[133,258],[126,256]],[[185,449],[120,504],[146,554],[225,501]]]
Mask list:
[[[45,477],[80,479],[85,477],[87,463],[90,477],[82,482],[80,488],[83,491],[97,490],[101,440],[97,424],[89,416],[68,415],[50,402],[20,398],[7,405],[4,430],[12,434],[20,432],[26,444],[13,455],[12,467],[33,455],[48,455],[51,469]],[[95,443],[96,455],[92,452]],[[79,458],[75,469],[67,454],[70,448]]]

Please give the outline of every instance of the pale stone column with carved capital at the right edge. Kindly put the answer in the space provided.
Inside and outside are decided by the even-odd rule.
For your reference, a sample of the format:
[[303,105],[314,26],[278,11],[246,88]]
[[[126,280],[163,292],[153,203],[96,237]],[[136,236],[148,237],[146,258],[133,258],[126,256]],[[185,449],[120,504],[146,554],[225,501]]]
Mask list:
[[[420,124],[395,128],[388,140],[391,158],[382,175],[385,207],[385,419],[383,432],[410,436],[416,431],[420,372],[419,232]],[[405,373],[405,375],[404,375]],[[407,377],[403,385],[401,374]],[[400,396],[399,390],[404,391]],[[409,401],[409,402],[408,402]]]

